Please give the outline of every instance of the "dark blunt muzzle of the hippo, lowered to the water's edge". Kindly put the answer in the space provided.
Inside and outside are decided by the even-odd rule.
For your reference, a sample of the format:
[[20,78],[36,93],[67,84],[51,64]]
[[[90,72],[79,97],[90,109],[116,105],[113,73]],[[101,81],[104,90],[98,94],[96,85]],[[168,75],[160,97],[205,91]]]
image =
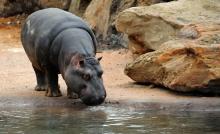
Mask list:
[[100,105],[104,102],[105,98],[106,98],[105,90],[96,94],[91,94],[89,93],[88,89],[86,91],[85,90],[82,91],[80,97],[83,103],[89,106]]

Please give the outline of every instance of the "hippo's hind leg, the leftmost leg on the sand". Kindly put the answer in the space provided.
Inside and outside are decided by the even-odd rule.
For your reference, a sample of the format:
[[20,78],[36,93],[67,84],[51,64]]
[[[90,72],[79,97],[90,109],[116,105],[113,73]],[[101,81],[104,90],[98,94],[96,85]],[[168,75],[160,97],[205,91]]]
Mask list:
[[46,79],[46,74],[45,72],[42,72],[38,69],[36,69],[34,66],[34,72],[36,74],[36,79],[37,79],[37,85],[35,87],[36,91],[46,91],[47,90],[47,79]]

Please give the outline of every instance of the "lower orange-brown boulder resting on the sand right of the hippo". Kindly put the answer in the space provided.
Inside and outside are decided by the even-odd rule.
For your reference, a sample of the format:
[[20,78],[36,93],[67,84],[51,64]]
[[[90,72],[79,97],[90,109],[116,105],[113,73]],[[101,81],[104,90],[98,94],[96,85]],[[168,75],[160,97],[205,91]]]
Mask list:
[[220,93],[220,44],[169,41],[128,64],[125,74],[134,81],[175,91]]

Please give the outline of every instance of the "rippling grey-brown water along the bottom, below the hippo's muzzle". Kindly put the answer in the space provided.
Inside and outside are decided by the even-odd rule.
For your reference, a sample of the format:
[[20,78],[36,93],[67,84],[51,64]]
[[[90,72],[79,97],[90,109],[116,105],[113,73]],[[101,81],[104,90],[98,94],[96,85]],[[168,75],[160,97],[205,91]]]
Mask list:
[[144,111],[112,106],[0,110],[0,134],[220,133],[219,112]]

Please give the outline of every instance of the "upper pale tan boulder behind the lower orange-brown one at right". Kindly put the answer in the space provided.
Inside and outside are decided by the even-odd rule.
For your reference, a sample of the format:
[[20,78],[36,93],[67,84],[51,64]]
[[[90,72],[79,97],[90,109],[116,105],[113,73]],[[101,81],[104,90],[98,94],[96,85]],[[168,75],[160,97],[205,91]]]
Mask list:
[[[209,42],[210,34],[220,30],[220,2],[179,0],[133,7],[118,15],[116,29],[128,35],[129,48],[138,55],[158,50],[170,40]],[[213,38],[219,37],[215,34]]]

